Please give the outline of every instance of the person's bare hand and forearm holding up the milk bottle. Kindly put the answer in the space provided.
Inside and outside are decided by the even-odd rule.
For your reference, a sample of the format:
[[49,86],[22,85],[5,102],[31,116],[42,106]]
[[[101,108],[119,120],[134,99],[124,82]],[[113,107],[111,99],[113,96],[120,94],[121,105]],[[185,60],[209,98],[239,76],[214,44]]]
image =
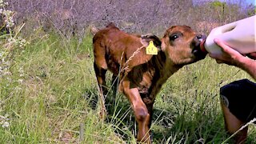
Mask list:
[[[231,66],[237,66],[245,70],[256,80],[256,61],[238,53],[238,51],[226,46],[224,42],[219,39],[214,39],[214,42],[222,48],[223,54],[209,54],[211,58],[216,59],[218,63],[226,63]],[[251,55],[254,57],[254,54]]]

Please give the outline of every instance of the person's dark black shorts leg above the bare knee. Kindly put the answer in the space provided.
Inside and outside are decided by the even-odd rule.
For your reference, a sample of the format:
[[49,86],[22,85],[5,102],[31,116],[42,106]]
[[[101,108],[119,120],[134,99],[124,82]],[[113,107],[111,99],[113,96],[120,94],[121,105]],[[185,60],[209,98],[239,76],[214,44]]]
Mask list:
[[222,102],[242,122],[256,118],[256,83],[248,79],[231,82],[220,90]]

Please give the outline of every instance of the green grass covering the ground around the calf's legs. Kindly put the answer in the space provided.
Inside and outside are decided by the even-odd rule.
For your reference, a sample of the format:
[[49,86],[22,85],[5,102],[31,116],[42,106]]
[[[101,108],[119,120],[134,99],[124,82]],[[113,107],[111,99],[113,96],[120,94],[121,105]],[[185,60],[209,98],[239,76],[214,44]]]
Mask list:
[[[0,127],[0,143],[78,143],[81,130],[82,143],[136,142],[137,126],[123,94],[114,98],[110,92],[106,120],[99,118],[90,35],[78,42],[34,34],[30,45],[13,53],[11,74],[0,78],[0,115],[8,114],[10,122]],[[154,143],[225,141],[219,88],[241,78],[250,77],[210,58],[184,66],[156,99]],[[248,143],[256,142],[255,135],[250,126]]]

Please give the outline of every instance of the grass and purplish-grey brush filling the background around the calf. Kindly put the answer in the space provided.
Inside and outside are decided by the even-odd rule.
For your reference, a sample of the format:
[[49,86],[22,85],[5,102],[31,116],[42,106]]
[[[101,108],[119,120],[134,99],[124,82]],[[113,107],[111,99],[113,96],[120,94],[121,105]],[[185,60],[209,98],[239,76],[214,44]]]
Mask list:
[[[242,0],[5,2],[0,0],[0,143],[136,142],[136,122],[123,94],[107,94],[107,116],[100,118],[90,26],[114,22],[129,33],[162,37],[172,25],[187,25],[209,34],[255,14],[255,6]],[[184,66],[158,94],[153,142],[232,143],[218,93],[241,78],[254,81],[209,57]],[[247,143],[255,142],[250,125]]]

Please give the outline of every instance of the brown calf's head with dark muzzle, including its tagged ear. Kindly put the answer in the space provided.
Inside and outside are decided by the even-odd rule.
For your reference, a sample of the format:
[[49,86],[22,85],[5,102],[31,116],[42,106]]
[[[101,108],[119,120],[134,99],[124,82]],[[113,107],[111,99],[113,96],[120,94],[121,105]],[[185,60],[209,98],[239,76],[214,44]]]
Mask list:
[[196,34],[189,26],[171,26],[160,40],[154,35],[142,36],[144,43],[151,40],[166,54],[166,60],[173,65],[184,66],[206,57],[200,50],[205,35]]

